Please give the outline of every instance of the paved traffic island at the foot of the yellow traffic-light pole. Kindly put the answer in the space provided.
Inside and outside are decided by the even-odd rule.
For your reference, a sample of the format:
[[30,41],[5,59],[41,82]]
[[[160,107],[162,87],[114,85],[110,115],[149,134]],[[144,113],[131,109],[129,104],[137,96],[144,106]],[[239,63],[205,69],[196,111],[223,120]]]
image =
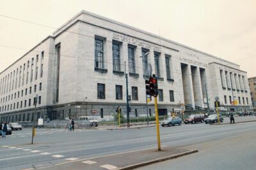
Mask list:
[[174,159],[195,152],[198,152],[198,150],[184,150],[162,146],[161,151],[158,151],[157,148],[148,148],[138,151],[94,157],[91,159],[63,162],[52,165],[51,167],[45,167],[44,169],[134,169],[136,167],[147,166],[148,164]]

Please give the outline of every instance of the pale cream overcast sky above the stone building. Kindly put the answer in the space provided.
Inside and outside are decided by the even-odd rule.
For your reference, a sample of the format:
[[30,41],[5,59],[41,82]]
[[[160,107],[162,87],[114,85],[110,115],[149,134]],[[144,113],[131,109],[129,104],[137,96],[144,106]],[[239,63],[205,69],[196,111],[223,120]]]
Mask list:
[[[230,60],[248,77],[256,76],[255,0],[0,0],[0,15],[55,28],[81,10]],[[0,72],[52,32],[49,27],[0,16]]]

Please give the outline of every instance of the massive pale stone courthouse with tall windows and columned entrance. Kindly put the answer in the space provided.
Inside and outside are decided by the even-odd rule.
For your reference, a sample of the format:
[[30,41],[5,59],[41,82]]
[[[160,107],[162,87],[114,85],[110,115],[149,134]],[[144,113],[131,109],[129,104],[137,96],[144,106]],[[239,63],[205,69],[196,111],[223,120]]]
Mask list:
[[[234,108],[234,103],[236,110],[252,105],[246,72],[239,65],[81,11],[0,73],[1,121],[93,114],[108,120],[117,106],[126,115],[125,71],[130,115],[145,116],[148,64],[158,78],[161,114],[183,105],[205,108],[206,96],[210,108],[216,96],[223,109]],[[148,103],[150,115],[153,101]]]

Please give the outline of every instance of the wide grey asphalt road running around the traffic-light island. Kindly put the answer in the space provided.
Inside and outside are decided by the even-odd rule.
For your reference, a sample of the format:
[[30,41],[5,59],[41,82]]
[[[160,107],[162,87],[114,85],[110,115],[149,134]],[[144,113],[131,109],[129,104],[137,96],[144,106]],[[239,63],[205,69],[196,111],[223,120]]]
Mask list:
[[[255,119],[255,117],[252,118]],[[245,117],[244,119],[248,120],[250,117]],[[161,127],[160,131],[161,145],[163,146],[199,150],[198,153],[195,153],[197,155],[195,156],[197,157],[196,162],[193,160],[193,155],[195,154],[186,156],[192,157],[191,162],[188,160],[189,165],[192,166],[184,164],[184,162],[187,162],[184,159],[185,157],[166,161],[183,160],[176,162],[177,168],[173,169],[187,169],[188,167],[189,169],[198,169],[196,164],[201,162],[202,164],[207,164],[207,162],[225,164],[222,160],[234,160],[235,166],[232,169],[236,169],[236,167],[241,169],[240,166],[236,166],[236,164],[241,164],[241,162],[237,162],[240,158],[238,155],[240,154],[244,154],[244,157],[241,156],[241,160],[248,160],[248,166],[243,164],[244,168],[252,169],[252,162],[255,160],[253,152],[256,153],[255,144],[253,145],[255,137],[252,136],[255,136],[256,122],[232,125],[188,124],[175,127]],[[247,138],[247,136],[250,136],[250,138]],[[227,145],[228,141],[232,141],[232,145]],[[55,165],[72,160],[102,157],[114,153],[156,147],[156,127],[125,129],[121,131],[75,129],[74,132],[64,129],[38,129],[34,140],[35,145],[30,143],[31,129],[13,131],[13,134],[7,136],[7,138],[0,138],[0,169],[44,167],[49,164]],[[215,146],[220,147],[216,148]],[[207,155],[211,155],[210,151],[214,148],[216,151],[213,152],[213,156],[207,157]],[[247,153],[248,155],[246,156]],[[120,159],[125,158],[120,157]],[[162,167],[162,169],[164,168]],[[211,168],[205,166],[202,169]],[[213,167],[212,169],[218,168]]]

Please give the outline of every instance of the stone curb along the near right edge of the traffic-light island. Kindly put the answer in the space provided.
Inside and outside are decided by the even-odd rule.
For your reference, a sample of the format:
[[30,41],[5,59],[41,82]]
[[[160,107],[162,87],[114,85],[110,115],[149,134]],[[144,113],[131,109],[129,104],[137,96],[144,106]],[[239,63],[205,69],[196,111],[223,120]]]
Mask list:
[[168,159],[175,159],[177,157],[182,157],[184,155],[189,155],[191,153],[196,153],[196,152],[198,152],[198,150],[190,150],[190,151],[187,151],[187,152],[177,153],[175,155],[170,155],[170,156],[167,156],[167,157],[161,157],[161,158],[158,158],[158,159],[148,160],[148,161],[145,161],[145,162],[140,162],[140,163],[132,164],[132,165],[129,165],[129,166],[118,167],[114,170],[134,169],[134,168],[137,168],[137,167],[147,166],[149,164],[154,164],[154,163],[157,163],[157,162],[163,162],[164,160],[168,160]]

